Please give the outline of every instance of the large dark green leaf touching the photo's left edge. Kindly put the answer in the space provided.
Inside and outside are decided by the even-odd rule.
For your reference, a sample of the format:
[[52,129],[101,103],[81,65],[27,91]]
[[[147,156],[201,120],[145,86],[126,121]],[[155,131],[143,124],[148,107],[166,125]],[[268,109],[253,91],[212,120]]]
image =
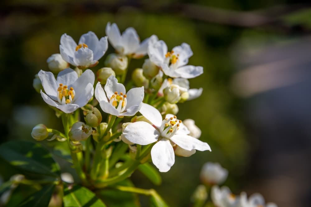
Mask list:
[[11,141],[0,145],[0,157],[15,168],[49,176],[59,176],[59,166],[39,143]]

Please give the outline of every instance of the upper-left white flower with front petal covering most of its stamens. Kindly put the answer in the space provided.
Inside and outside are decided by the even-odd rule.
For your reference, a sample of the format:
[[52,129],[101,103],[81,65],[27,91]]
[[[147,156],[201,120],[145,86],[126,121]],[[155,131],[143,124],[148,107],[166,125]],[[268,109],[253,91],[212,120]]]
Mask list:
[[96,34],[91,31],[81,36],[78,45],[71,36],[63,34],[59,45],[64,61],[81,68],[95,66],[107,48],[107,37],[98,40]]

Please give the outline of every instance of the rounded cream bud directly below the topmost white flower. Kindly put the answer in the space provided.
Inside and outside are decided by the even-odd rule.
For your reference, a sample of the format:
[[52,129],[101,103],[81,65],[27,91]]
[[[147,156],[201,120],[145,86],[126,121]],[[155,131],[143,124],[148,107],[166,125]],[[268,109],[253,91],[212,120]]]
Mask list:
[[112,68],[115,74],[122,75],[128,67],[128,57],[111,53],[105,60],[105,66]]

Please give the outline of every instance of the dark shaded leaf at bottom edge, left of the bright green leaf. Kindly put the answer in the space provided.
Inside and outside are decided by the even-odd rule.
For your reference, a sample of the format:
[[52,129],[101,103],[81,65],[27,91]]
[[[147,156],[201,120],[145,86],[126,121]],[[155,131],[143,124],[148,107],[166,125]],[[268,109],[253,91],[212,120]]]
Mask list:
[[21,202],[19,207],[41,207],[48,206],[53,194],[55,185],[46,185],[40,191],[28,196],[23,202]]

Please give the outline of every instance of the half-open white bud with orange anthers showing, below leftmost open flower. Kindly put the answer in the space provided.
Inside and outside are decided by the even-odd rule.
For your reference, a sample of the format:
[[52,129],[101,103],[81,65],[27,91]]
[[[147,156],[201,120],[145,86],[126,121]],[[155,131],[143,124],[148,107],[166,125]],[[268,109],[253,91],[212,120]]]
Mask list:
[[69,138],[73,142],[84,141],[89,137],[92,133],[92,127],[89,125],[84,124],[83,122],[79,121],[72,125],[70,132],[68,133]]

